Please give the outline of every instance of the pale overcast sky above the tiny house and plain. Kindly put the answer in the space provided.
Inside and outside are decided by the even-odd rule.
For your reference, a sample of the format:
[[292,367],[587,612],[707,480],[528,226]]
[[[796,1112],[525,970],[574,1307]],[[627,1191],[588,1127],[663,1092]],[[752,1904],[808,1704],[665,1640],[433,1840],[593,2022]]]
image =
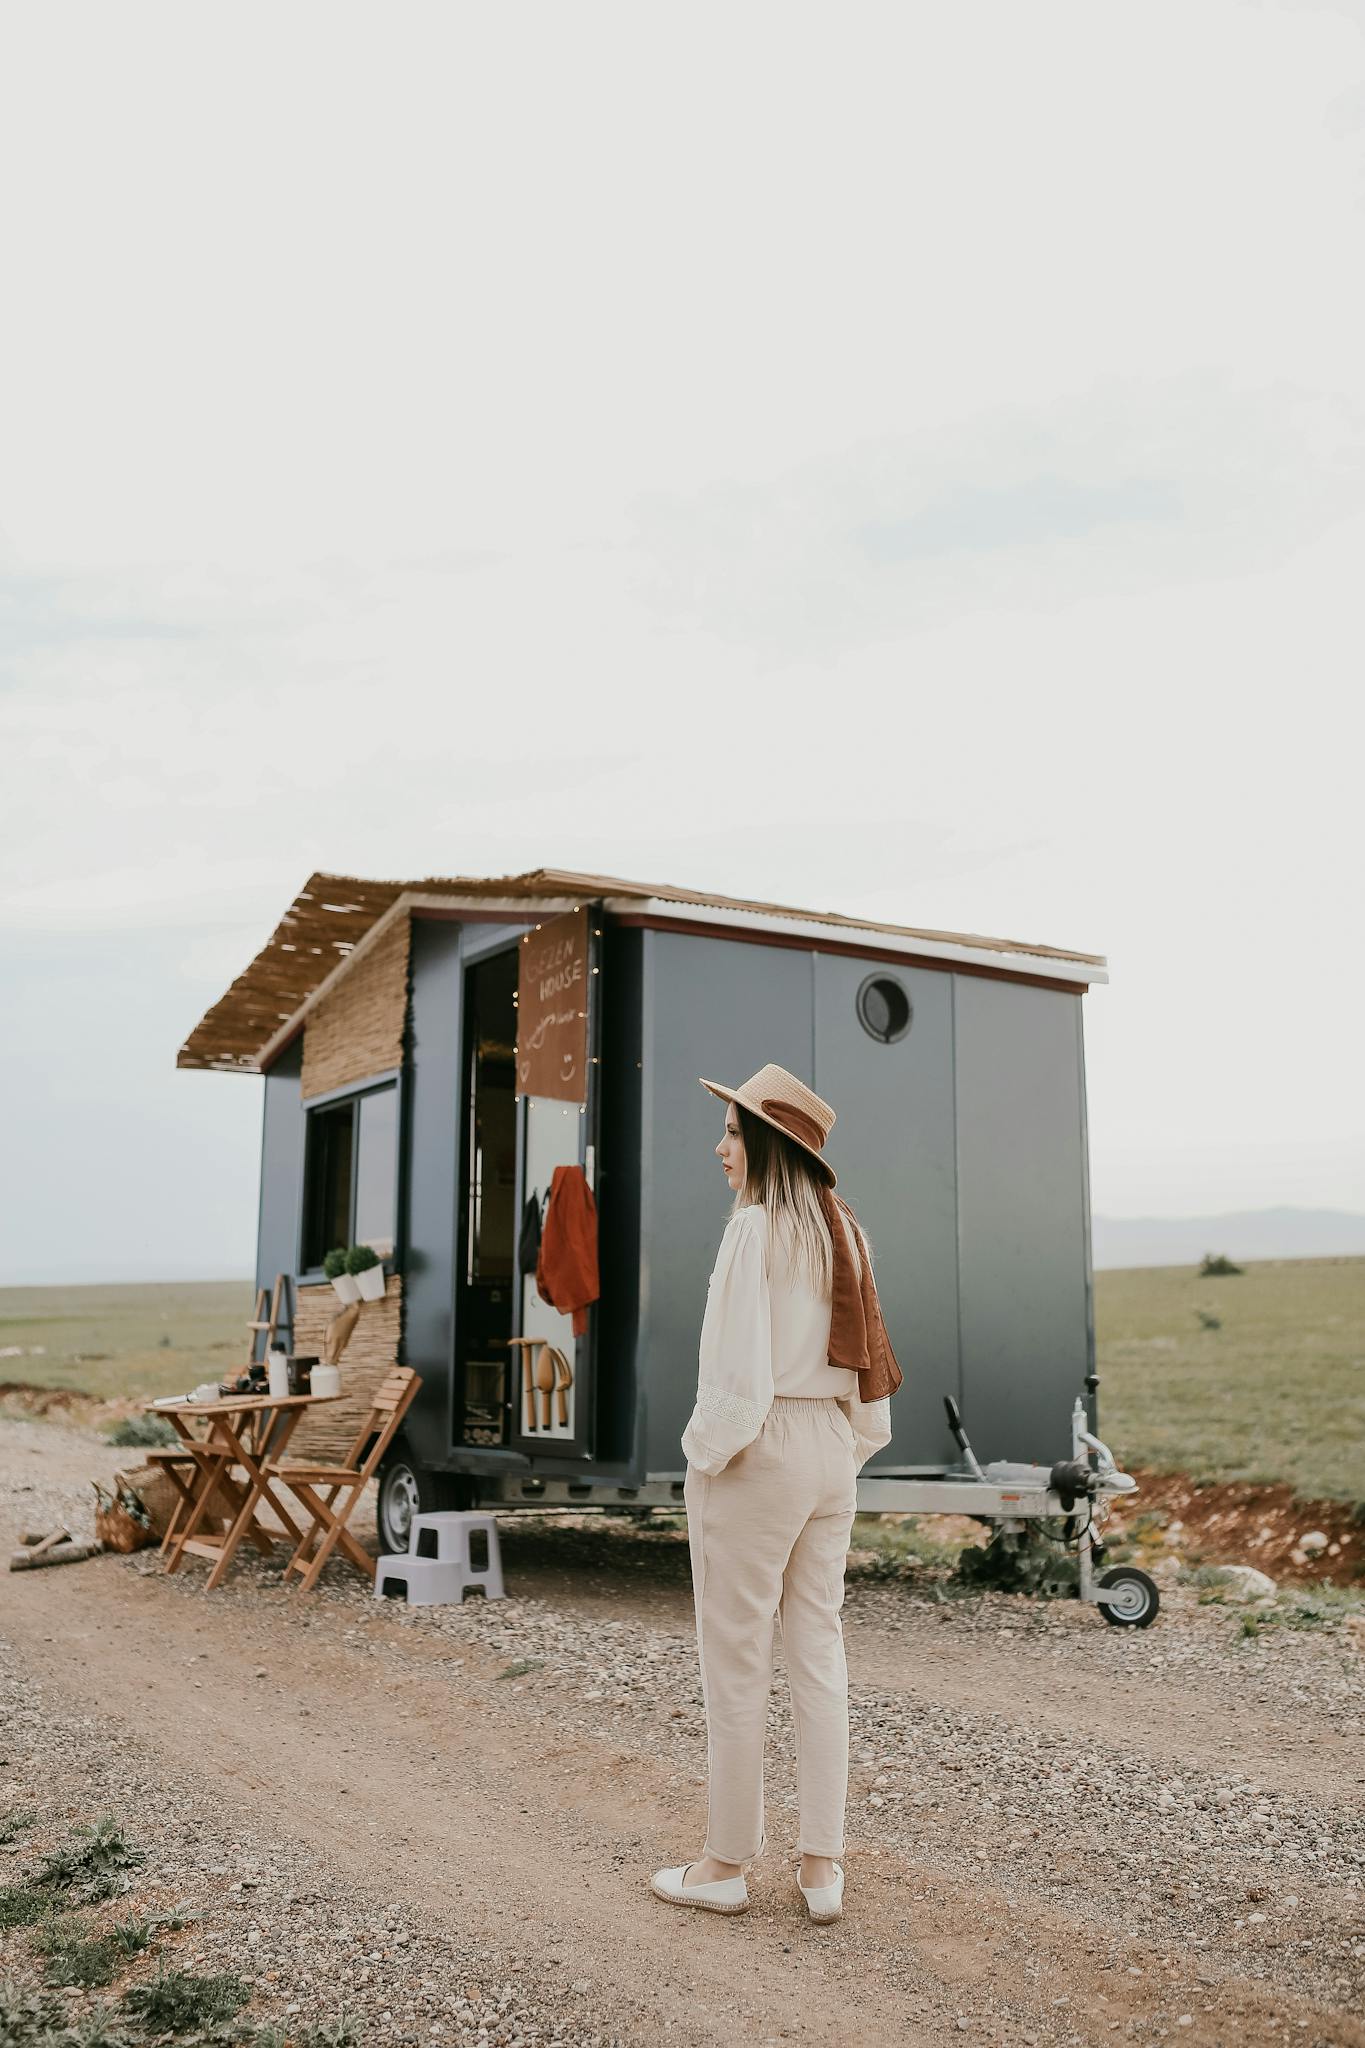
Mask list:
[[1363,29],[6,8],[0,1278],[250,1270],[313,868],[1103,952],[1099,1212],[1365,1208]]

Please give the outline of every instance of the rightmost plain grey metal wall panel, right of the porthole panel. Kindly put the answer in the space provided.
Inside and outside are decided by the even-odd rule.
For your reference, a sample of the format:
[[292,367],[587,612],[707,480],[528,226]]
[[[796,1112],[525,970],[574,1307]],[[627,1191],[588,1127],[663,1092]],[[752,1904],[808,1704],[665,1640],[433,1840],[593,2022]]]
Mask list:
[[962,1417],[982,1460],[1048,1462],[1089,1350],[1081,999],[954,983]]

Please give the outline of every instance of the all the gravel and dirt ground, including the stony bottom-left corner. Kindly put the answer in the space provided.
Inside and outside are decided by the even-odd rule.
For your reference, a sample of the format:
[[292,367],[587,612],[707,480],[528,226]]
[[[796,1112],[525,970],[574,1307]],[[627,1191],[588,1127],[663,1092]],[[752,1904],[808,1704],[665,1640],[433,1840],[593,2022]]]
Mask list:
[[[4,1425],[0,1532],[80,1534],[108,1456]],[[239,1974],[239,2038],[280,2030],[262,2042],[344,2019],[487,2048],[1365,2048],[1347,1612],[1248,1634],[1254,1610],[1166,1571],[1130,1632],[855,1554],[847,1901],[812,1927],[780,1638],[753,1907],[669,1907],[649,1874],[698,1855],[706,1819],[686,1530],[508,1516],[501,1548],[510,1597],[458,1610],[377,1604],[344,1567],[303,1597],[260,1556],[213,1595],[156,1552],[6,1577],[0,1880],[115,1815],[147,1860],[92,1929],[184,1919],[111,1987],[53,1993],[68,2015],[174,1964]],[[37,1987],[33,1927],[0,1942]]]

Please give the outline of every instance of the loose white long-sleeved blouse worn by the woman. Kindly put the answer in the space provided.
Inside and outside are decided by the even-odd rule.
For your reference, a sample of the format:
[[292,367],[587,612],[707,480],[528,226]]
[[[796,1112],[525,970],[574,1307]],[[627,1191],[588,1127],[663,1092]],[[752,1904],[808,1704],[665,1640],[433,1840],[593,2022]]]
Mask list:
[[[857,1239],[847,1217],[849,1249]],[[698,1389],[681,1448],[698,1473],[720,1473],[763,1427],[774,1395],[833,1395],[857,1438],[857,1468],[890,1444],[890,1399],[864,1401],[851,1366],[831,1366],[833,1303],[812,1292],[761,1202],[724,1227],[706,1292]]]

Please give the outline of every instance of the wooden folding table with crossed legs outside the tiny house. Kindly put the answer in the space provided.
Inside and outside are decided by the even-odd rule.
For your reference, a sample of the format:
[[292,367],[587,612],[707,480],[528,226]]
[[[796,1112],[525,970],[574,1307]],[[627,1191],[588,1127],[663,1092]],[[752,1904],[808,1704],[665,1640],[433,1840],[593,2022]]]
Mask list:
[[[168,1544],[166,1571],[178,1571],[186,1550],[190,1556],[213,1559],[205,1587],[211,1593],[221,1585],[244,1536],[270,1554],[276,1536],[258,1518],[262,1499],[299,1544],[301,1530],[270,1485],[266,1460],[284,1454],[309,1407],[340,1399],[340,1395],[223,1395],[219,1401],[147,1401],[145,1413],[164,1415],[194,1460],[188,1481],[176,1475],[184,1501]],[[192,1421],[207,1421],[207,1432],[199,1436]],[[237,1464],[246,1481],[233,1477]],[[231,1509],[231,1524],[223,1536],[201,1534],[215,1495]]]

